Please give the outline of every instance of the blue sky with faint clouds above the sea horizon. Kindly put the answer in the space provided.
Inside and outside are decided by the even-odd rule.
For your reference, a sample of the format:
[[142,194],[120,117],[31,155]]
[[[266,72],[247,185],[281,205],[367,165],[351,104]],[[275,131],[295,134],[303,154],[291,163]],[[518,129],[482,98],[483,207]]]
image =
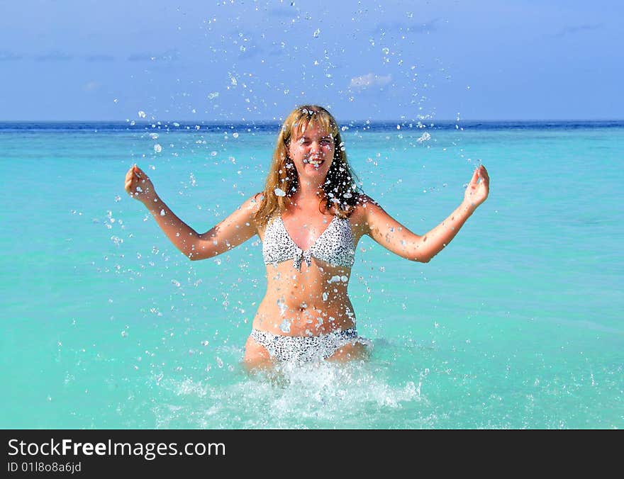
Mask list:
[[621,119],[620,1],[0,1],[0,120]]

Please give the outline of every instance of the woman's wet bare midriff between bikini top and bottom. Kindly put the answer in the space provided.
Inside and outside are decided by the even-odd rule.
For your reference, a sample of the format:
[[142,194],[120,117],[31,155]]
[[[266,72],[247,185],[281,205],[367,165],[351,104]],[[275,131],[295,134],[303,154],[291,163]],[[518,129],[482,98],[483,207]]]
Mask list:
[[282,336],[318,336],[355,326],[347,296],[350,268],[312,258],[301,271],[293,261],[267,264],[267,294],[253,327]]

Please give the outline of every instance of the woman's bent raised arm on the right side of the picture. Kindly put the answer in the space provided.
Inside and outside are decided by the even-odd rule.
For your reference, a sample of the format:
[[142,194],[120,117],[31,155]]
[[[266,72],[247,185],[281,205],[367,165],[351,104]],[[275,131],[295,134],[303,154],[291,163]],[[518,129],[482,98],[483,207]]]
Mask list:
[[464,201],[440,225],[419,236],[401,225],[374,201],[364,203],[364,234],[381,246],[411,261],[428,263],[451,242],[474,210],[489,194],[489,176],[483,165],[479,166],[464,193]]

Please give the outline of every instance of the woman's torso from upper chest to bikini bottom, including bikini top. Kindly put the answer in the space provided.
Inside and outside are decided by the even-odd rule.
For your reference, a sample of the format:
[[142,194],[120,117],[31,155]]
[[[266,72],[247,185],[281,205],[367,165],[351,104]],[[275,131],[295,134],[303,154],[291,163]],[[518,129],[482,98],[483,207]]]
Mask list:
[[259,232],[267,293],[255,315],[255,329],[316,336],[355,326],[347,286],[362,232],[353,217],[284,213]]

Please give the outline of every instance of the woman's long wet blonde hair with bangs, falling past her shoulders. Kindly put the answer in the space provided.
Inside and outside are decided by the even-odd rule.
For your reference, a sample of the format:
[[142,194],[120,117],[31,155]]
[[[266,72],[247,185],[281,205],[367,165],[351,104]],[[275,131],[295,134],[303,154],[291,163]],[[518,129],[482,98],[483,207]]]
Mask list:
[[316,127],[329,133],[334,141],[334,157],[323,184],[319,210],[323,213],[332,211],[339,218],[348,218],[357,203],[360,195],[357,176],[347,162],[345,144],[340,137],[338,123],[331,113],[321,106],[299,106],[284,120],[284,125],[277,135],[277,145],[264,184],[264,197],[255,213],[255,220],[262,227],[267,225],[276,211],[283,213],[286,210],[290,197],[299,187],[299,175],[288,156],[288,147],[293,135],[300,135],[308,127]]

